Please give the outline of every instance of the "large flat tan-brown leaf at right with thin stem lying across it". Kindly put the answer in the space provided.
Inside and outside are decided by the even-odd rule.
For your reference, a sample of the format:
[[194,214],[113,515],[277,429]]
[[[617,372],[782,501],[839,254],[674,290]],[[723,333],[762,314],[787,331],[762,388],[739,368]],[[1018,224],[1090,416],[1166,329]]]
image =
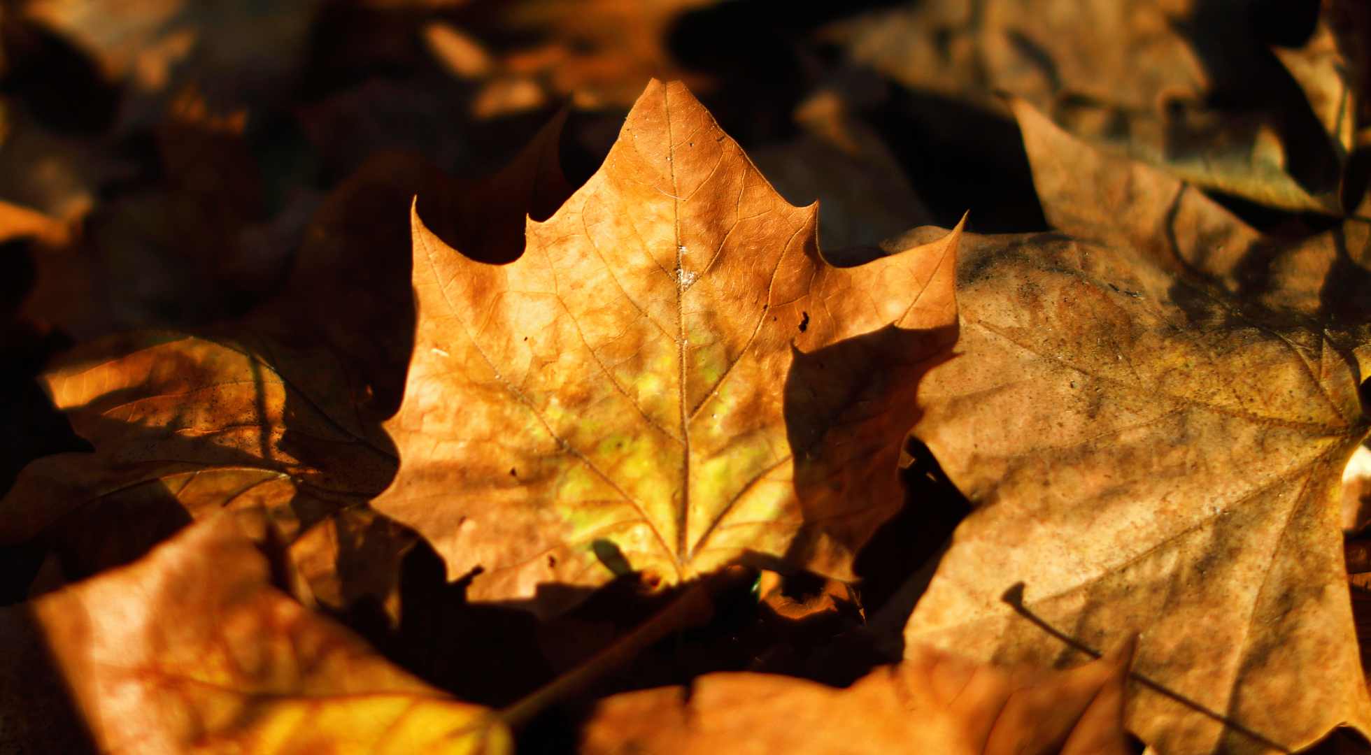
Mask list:
[[1164,752],[1367,732],[1339,526],[1364,319],[1308,281],[1334,245],[1259,240],[1013,107],[1073,236],[965,241],[961,356],[925,377],[913,433],[978,510],[906,641],[1050,663],[1142,632],[1128,728]]

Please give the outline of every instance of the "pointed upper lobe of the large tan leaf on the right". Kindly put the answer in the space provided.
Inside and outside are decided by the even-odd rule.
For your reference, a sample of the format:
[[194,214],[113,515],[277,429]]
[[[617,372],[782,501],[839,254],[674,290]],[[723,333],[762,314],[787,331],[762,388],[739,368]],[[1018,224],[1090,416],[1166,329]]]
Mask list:
[[[1371,222],[1348,218],[1304,238],[1267,237],[1202,192],[1124,156],[1094,149],[1012,100],[1047,221],[1194,274],[1243,304],[1281,312],[1350,352],[1371,340]],[[1127,207],[1127,212],[1120,212]]]

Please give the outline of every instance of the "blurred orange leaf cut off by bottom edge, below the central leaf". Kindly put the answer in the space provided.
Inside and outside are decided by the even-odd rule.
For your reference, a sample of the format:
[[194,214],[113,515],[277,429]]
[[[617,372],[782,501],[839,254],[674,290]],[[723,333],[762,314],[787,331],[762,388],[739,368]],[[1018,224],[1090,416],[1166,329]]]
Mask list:
[[1065,671],[997,669],[930,647],[847,689],[771,674],[717,673],[681,688],[602,700],[581,751],[1127,752],[1132,645]]

